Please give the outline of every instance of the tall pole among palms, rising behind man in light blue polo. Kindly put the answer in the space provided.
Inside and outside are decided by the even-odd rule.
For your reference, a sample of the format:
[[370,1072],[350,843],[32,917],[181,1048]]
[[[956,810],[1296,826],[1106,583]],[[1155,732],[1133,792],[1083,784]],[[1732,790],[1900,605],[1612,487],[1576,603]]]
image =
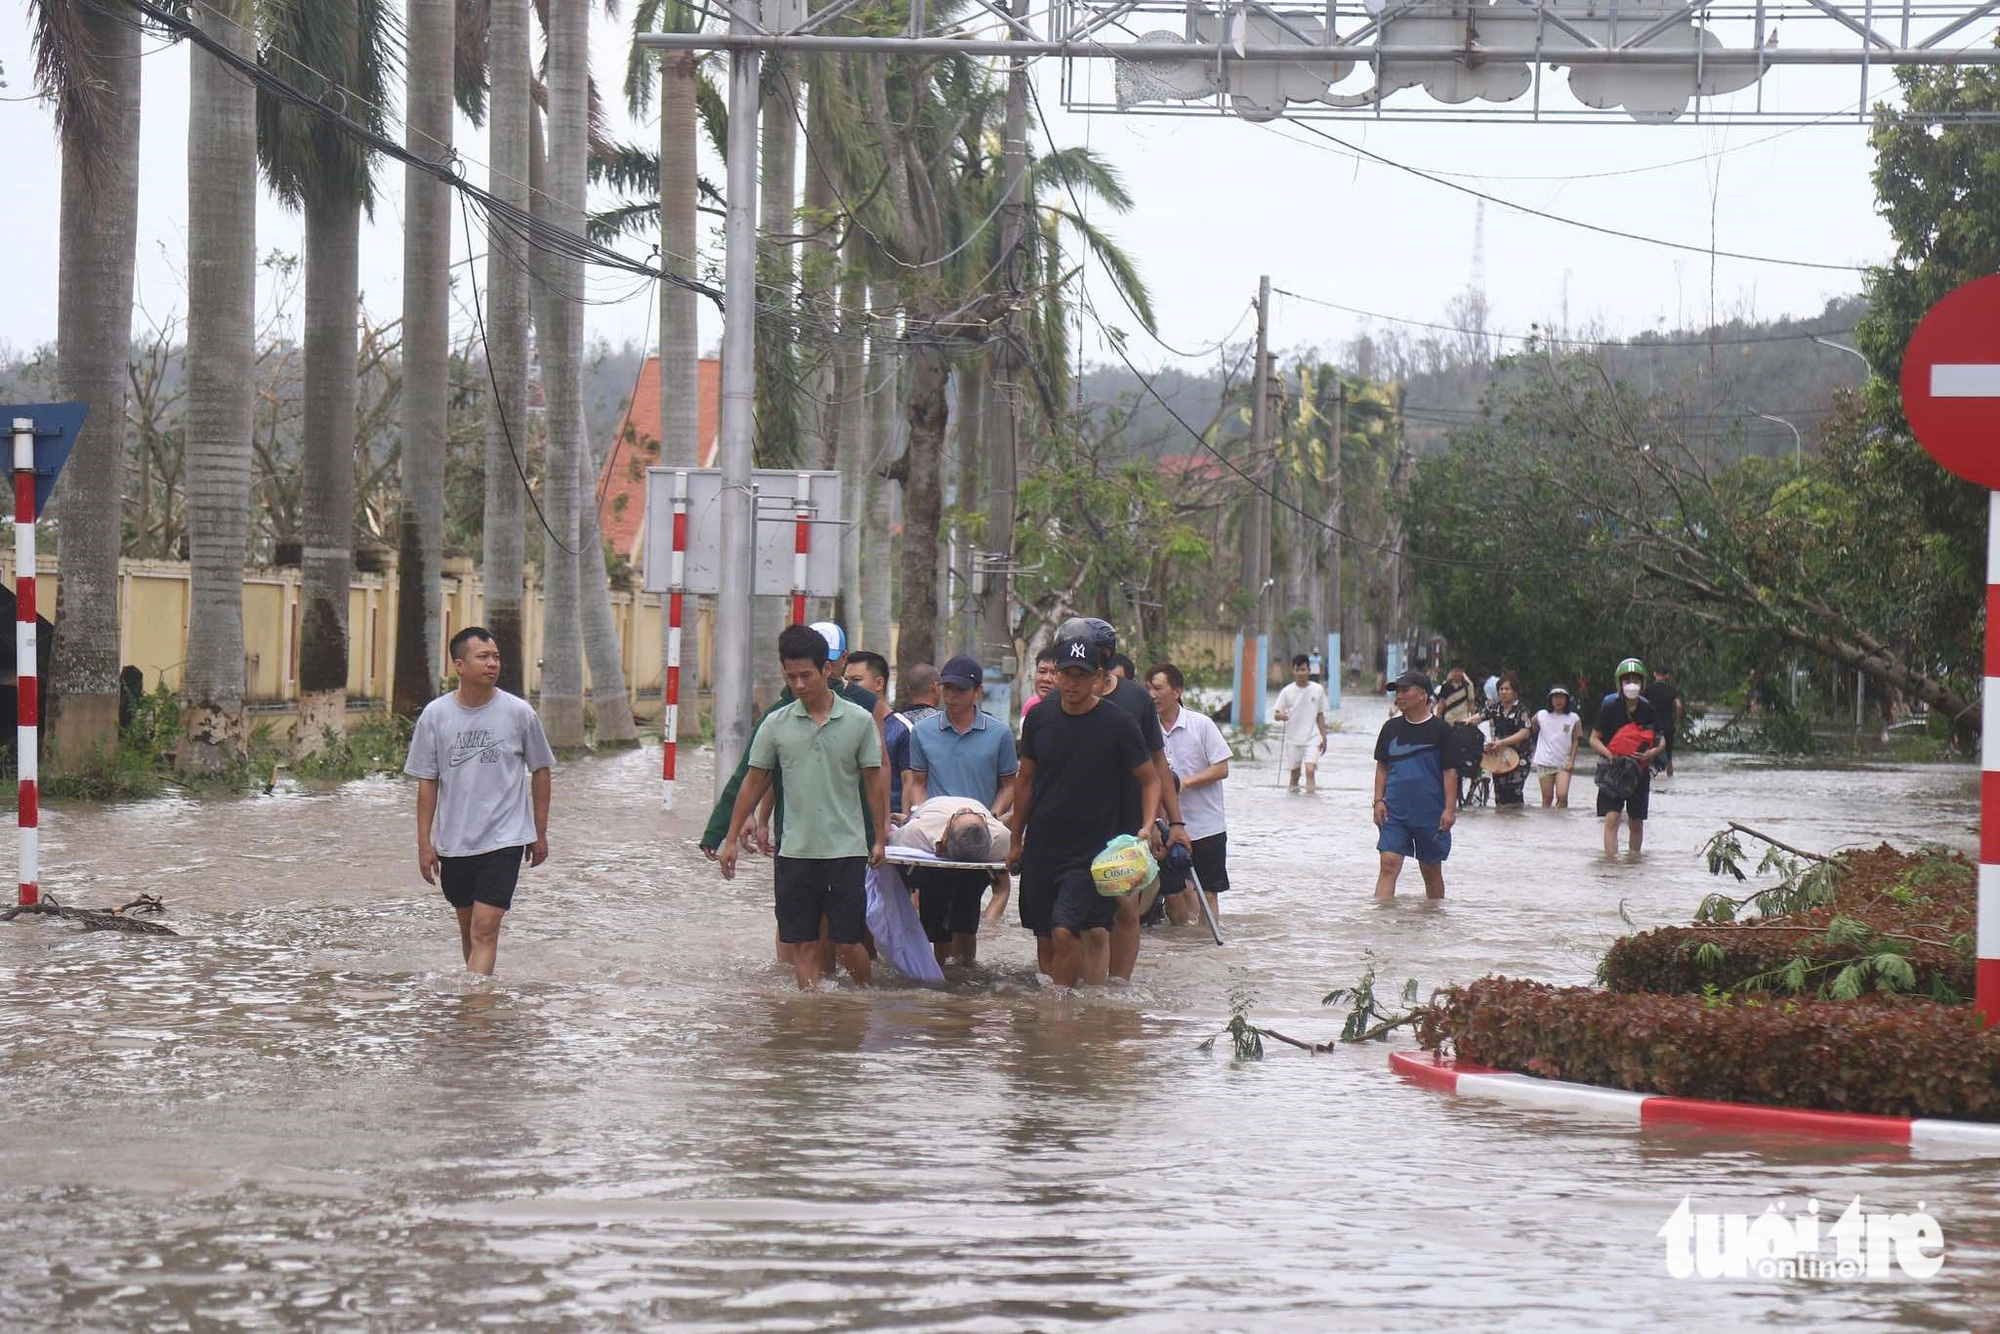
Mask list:
[[[1008,10],[1022,26],[1028,22],[1028,0],[1010,0]],[[1018,40],[1018,32],[1008,32]],[[1020,392],[1024,368],[1020,332],[1022,244],[1028,236],[1028,62],[1008,60],[1006,76],[1006,138],[1002,140],[1000,186],[1000,256],[1002,280],[1012,298],[1000,346],[994,352],[994,398],[1000,420],[986,420],[986,542],[968,568],[986,562],[980,582],[980,618],[974,652],[1020,674],[1014,656],[1014,496],[1018,494],[1022,420],[1028,402]]]

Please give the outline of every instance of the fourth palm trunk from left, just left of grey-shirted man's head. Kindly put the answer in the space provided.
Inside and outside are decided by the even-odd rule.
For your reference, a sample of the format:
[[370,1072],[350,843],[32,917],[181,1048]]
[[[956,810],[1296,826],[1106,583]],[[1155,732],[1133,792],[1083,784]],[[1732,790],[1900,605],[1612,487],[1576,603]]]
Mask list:
[[[452,148],[454,0],[408,0],[404,142],[440,162]],[[402,504],[396,528],[396,684],[414,718],[438,692],[444,664],[444,434],[452,358],[452,190],[404,168],[402,228]]]

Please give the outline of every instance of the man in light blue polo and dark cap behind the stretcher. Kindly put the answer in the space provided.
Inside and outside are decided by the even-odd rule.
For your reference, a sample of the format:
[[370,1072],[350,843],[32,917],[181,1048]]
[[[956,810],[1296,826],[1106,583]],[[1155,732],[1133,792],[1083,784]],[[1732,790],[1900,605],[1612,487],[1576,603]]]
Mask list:
[[[1014,774],[1020,758],[1006,724],[980,710],[986,674],[964,654],[938,672],[944,710],[910,728],[910,766],[902,772],[902,808],[916,810],[932,796],[964,796],[996,816],[1014,808]],[[916,876],[918,916],[938,948],[938,962],[958,956],[972,964],[978,952],[980,898],[994,886],[988,922],[1006,912],[1006,876],[980,870],[926,870]]]

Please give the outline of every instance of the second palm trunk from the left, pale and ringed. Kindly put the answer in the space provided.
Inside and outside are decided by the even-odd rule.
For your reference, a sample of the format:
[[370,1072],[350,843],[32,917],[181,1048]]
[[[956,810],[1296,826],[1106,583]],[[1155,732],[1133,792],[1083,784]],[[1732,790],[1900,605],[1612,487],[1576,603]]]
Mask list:
[[[202,28],[252,56],[250,0],[198,8]],[[180,768],[244,752],[244,540],[250,514],[256,322],[256,92],[200,48],[188,90],[188,742]]]

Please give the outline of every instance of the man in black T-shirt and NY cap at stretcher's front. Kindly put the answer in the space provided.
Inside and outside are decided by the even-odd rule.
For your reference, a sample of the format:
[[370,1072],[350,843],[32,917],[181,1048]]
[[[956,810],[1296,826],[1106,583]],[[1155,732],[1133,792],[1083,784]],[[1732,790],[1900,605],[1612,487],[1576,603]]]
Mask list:
[[[1022,722],[1008,828],[1020,852],[1020,924],[1036,936],[1042,972],[1076,986],[1078,978],[1108,976],[1110,928],[1122,902],[1098,894],[1090,862],[1118,834],[1146,836],[1160,804],[1160,776],[1138,724],[1098,698],[1104,668],[1096,646],[1056,640],[1056,652],[1058,700],[1044,700]],[[1124,780],[1140,792],[1132,820]]]

